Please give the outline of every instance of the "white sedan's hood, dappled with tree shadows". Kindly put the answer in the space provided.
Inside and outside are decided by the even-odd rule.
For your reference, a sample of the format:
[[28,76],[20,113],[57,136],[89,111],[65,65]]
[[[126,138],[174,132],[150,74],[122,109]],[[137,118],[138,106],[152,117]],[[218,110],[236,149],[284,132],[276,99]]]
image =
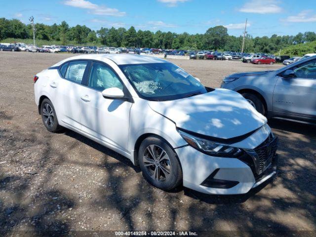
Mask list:
[[179,128],[222,139],[242,136],[267,122],[240,94],[227,89],[148,103],[155,112],[169,118]]

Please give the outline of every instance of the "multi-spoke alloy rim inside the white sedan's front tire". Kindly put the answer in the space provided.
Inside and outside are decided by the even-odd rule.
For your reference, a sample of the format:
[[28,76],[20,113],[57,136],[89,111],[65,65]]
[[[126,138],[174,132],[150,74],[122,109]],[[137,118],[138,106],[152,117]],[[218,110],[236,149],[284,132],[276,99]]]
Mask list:
[[156,182],[164,182],[171,174],[167,153],[157,145],[149,145],[143,154],[143,162],[149,176]]

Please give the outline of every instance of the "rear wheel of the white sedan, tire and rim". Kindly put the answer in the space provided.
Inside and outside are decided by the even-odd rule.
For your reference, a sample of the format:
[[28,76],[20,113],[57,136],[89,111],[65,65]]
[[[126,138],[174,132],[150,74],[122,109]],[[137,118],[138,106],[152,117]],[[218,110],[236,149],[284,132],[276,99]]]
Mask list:
[[40,105],[40,114],[44,126],[50,132],[58,132],[62,127],[58,123],[53,104],[49,99],[44,99]]

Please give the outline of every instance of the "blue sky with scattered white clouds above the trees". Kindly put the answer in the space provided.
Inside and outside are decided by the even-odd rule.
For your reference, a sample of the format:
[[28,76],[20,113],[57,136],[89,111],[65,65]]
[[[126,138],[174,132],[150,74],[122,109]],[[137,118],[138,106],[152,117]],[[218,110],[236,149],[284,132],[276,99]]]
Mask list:
[[52,25],[134,26],[136,30],[203,34],[223,25],[239,36],[248,19],[253,37],[316,31],[316,0],[1,0],[0,17]]

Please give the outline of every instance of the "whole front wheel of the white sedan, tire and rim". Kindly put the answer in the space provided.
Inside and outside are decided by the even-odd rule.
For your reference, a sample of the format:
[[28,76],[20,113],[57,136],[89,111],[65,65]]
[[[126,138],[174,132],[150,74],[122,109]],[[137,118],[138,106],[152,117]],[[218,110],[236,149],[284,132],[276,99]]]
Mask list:
[[166,141],[151,136],[140,145],[138,161],[145,179],[153,186],[168,191],[182,182],[180,162]]

